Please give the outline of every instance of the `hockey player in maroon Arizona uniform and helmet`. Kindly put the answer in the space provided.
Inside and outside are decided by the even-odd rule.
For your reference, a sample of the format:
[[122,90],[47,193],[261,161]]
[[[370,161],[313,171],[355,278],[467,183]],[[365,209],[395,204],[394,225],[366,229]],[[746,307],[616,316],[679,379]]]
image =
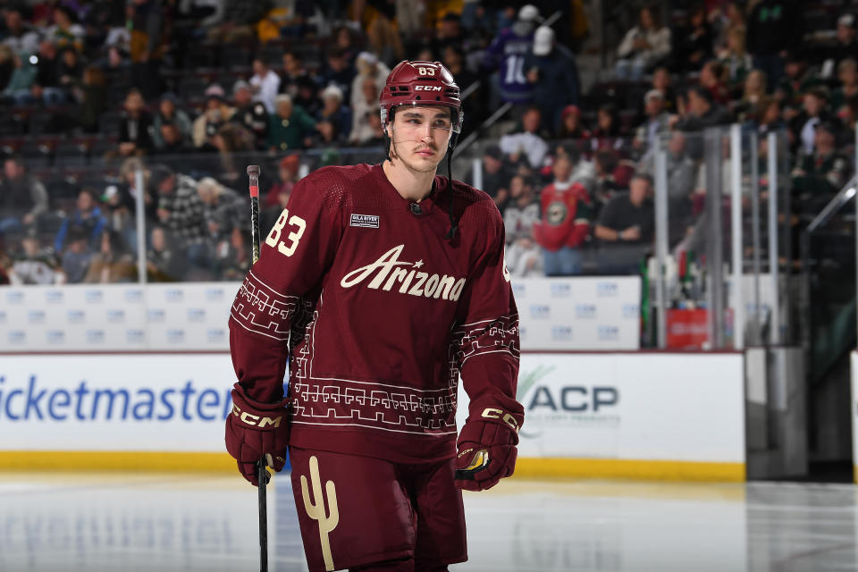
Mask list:
[[289,445],[311,572],[466,560],[460,490],[512,475],[524,420],[501,216],[435,175],[458,86],[441,63],[402,62],[380,105],[388,159],[299,181],[231,310],[227,450],[257,484],[257,458],[280,470]]

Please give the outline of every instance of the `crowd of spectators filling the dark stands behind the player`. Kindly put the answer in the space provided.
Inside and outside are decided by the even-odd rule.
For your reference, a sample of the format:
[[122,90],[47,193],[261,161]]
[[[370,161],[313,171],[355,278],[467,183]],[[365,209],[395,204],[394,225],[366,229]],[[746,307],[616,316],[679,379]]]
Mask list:
[[639,272],[660,140],[673,243],[694,240],[708,127],[787,132],[799,210],[852,172],[851,13],[797,41],[806,6],[792,0],[637,4],[585,90],[585,2],[522,4],[0,4],[0,282],[136,281],[139,249],[150,281],[240,278],[245,164],[264,165],[265,231],[307,170],[382,160],[378,93],[406,58],[452,71],[463,138],[507,110],[509,128],[474,147],[479,181],[454,175],[494,198],[516,275]]

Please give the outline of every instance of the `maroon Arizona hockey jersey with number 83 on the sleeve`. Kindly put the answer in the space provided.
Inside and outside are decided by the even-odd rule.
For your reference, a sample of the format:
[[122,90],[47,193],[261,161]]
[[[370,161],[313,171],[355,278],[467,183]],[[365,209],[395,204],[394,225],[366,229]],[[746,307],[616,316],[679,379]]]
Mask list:
[[[450,229],[453,194],[458,232]],[[479,416],[515,400],[518,315],[492,198],[435,177],[416,206],[381,165],[299,181],[230,317],[250,397],[282,400],[290,444],[394,462],[456,453],[461,374]]]

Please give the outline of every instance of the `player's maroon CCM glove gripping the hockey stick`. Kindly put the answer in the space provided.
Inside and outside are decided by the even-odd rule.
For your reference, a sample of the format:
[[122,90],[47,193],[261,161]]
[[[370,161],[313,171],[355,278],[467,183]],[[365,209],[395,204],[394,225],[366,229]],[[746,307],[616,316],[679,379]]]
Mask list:
[[280,471],[286,464],[289,420],[286,400],[260,403],[251,400],[239,383],[232,390],[232,412],[226,417],[226,450],[238,461],[239,472],[257,486],[257,461],[267,457],[268,467]]

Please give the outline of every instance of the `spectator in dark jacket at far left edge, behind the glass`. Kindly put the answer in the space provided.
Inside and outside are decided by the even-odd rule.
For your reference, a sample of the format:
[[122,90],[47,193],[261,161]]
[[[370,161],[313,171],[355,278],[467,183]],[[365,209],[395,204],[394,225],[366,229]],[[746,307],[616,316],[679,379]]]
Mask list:
[[37,178],[29,175],[17,157],[9,157],[3,164],[3,182],[0,184],[0,234],[20,232],[24,227],[38,224],[47,212],[47,190]]

